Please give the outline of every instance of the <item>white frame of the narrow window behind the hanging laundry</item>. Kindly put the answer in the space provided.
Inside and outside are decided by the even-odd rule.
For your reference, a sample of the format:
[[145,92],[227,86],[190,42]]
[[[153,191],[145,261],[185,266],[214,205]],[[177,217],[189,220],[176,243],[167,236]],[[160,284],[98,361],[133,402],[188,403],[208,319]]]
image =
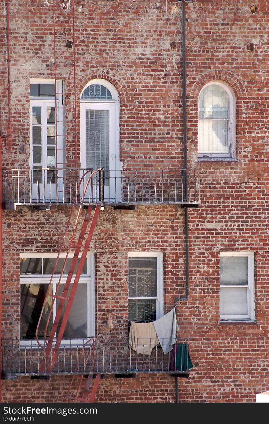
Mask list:
[[[129,258],[132,257],[156,257],[157,258],[157,296],[156,298],[156,320],[164,316],[164,255],[162,252],[129,252]],[[128,267],[129,279],[129,267]],[[152,297],[129,297],[129,283],[128,283],[128,302],[129,299],[150,299]]]

